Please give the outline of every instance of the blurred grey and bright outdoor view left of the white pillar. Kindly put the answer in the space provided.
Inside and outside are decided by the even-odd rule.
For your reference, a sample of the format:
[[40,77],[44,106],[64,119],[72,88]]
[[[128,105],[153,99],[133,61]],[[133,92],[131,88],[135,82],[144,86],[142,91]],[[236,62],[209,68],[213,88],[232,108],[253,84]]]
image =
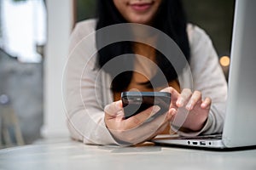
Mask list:
[[0,148],[40,138],[46,25],[44,0],[0,0]]

